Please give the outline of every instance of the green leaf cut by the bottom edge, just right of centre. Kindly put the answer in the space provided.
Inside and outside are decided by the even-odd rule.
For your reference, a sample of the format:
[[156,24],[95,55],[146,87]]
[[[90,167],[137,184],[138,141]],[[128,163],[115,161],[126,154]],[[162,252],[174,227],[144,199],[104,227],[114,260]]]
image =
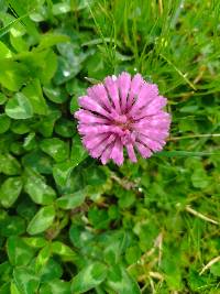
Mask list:
[[113,265],[109,271],[107,285],[118,294],[141,294],[138,283],[120,265]]

